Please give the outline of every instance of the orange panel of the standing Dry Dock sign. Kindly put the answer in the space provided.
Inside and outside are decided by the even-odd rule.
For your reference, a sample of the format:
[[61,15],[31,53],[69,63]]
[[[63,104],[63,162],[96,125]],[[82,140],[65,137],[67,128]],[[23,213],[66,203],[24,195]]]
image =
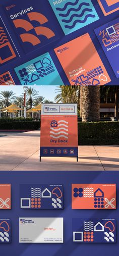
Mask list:
[[[57,143],[51,143],[50,139],[55,140],[54,138],[50,137],[50,124],[52,120],[56,120],[57,122],[59,120],[65,120],[66,122],[68,122],[68,142],[64,143],[64,142],[57,142]],[[57,127],[56,129],[58,129],[60,127]],[[62,131],[62,130],[61,130]],[[67,131],[66,131],[67,132]],[[41,138],[40,138],[40,143],[41,146],[74,146],[77,147],[78,146],[78,127],[77,127],[77,116],[56,116],[56,115],[52,115],[52,116],[41,116]],[[60,135],[60,134],[59,134]],[[58,136],[58,135],[56,135]],[[66,135],[67,136],[67,135]],[[61,140],[65,140],[64,137],[59,138]]]

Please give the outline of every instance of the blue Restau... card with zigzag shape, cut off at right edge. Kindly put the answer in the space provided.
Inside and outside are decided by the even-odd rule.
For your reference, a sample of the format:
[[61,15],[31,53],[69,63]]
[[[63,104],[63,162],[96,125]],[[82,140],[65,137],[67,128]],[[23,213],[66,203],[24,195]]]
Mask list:
[[115,73],[119,77],[119,18],[95,29],[95,34]]

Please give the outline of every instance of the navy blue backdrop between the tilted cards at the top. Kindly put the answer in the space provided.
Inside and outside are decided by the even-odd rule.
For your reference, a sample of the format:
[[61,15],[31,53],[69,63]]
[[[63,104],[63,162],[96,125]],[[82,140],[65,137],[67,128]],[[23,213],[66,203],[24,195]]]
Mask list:
[[[17,1],[18,0],[16,0],[16,2]],[[39,2],[40,0],[37,0],[37,1]],[[38,57],[38,56],[40,56],[40,55],[42,55],[42,54],[44,54],[46,52],[49,52],[51,57],[52,57],[52,60],[53,60],[53,62],[55,64],[55,66],[56,66],[56,68],[57,68],[57,70],[59,72],[59,74],[61,75],[62,80],[64,81],[64,84],[65,85],[69,85],[69,81],[67,79],[67,76],[66,76],[66,74],[65,74],[61,64],[59,63],[59,61],[58,61],[58,59],[57,59],[53,49],[55,47],[58,47],[59,45],[62,45],[64,43],[66,43],[66,42],[68,42],[70,40],[73,40],[76,37],[79,37],[79,36],[81,36],[81,35],[83,35],[83,34],[88,32],[90,34],[91,38],[92,38],[92,41],[93,41],[96,49],[97,49],[97,52],[98,52],[98,54],[99,54],[99,56],[100,56],[100,58],[101,58],[101,60],[102,60],[102,62],[104,64],[104,66],[105,66],[105,68],[106,68],[110,78],[111,78],[111,82],[108,83],[107,85],[119,85],[118,79],[115,77],[115,74],[114,74],[114,72],[113,72],[113,70],[112,70],[112,68],[111,68],[111,66],[110,66],[110,64],[109,64],[109,62],[108,62],[104,52],[103,52],[103,49],[101,48],[101,45],[100,45],[100,43],[99,43],[99,41],[96,38],[96,35],[94,33],[94,29],[95,28],[97,28],[97,27],[99,27],[99,26],[101,26],[101,25],[103,25],[103,24],[105,24],[105,23],[107,23],[107,22],[109,22],[111,20],[116,19],[118,17],[118,11],[114,12],[114,13],[112,13],[112,14],[110,14],[110,15],[105,17],[103,15],[103,13],[102,13],[98,3],[97,3],[97,0],[92,0],[92,3],[94,5],[94,7],[95,7],[95,9],[97,11],[97,14],[98,14],[100,19],[98,21],[93,22],[92,24],[84,27],[84,28],[81,28],[81,29],[79,29],[79,30],[77,30],[77,31],[75,31],[75,32],[65,36],[65,34],[64,34],[61,26],[59,25],[59,23],[58,23],[55,15],[54,15],[51,7],[49,6],[48,0],[44,0],[44,8],[47,9],[47,6],[49,6],[48,13],[49,13],[49,9],[50,9],[50,15],[52,16],[52,19],[54,21],[56,30],[59,33],[60,39],[57,40],[57,41],[54,41],[53,43],[51,43],[49,45],[46,45],[45,47],[37,49],[37,50],[35,50],[34,52],[32,52],[32,53],[30,53],[28,55],[24,55],[23,49],[21,48],[21,46],[19,44],[19,41],[18,41],[16,35],[14,34],[14,30],[13,30],[12,26],[9,24],[8,18],[7,18],[6,14],[4,13],[4,10],[2,8],[2,5],[11,4],[11,3],[12,3],[11,0],[9,0],[9,1],[8,0],[1,0],[1,2],[0,2],[0,4],[1,4],[1,6],[0,6],[0,8],[1,8],[0,9],[0,15],[4,19],[4,22],[7,25],[7,28],[9,30],[9,32],[12,35],[12,39],[13,39],[13,41],[15,42],[15,44],[17,46],[17,49],[18,49],[18,51],[20,53],[20,56],[21,56],[21,59],[17,59],[15,61],[11,62],[10,64],[7,64],[7,65],[4,65],[3,67],[1,67],[0,74],[5,73],[6,71],[10,71],[10,73],[11,73],[15,83],[19,84],[19,79],[18,79],[18,77],[17,77],[17,75],[16,75],[16,73],[14,71],[14,68],[19,66],[19,65],[21,65],[21,64],[23,64],[23,63],[25,63],[25,62],[27,62],[27,61],[29,61],[29,60],[32,60],[33,58],[36,58],[36,57]],[[21,6],[21,9],[22,9],[22,6]]]

